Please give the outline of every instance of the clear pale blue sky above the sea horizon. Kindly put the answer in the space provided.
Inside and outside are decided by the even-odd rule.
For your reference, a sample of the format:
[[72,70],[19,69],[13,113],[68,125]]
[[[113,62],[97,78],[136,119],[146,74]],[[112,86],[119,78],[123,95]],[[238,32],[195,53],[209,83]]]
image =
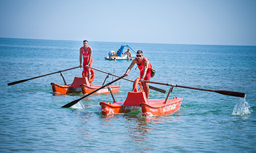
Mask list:
[[0,0],[0,38],[256,46],[254,0]]

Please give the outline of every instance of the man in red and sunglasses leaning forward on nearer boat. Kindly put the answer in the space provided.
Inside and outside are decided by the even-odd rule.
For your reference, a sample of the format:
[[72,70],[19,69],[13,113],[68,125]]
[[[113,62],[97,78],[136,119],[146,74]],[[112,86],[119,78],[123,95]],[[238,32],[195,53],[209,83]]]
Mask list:
[[131,71],[131,69],[135,64],[138,65],[139,71],[141,71],[140,76],[141,76],[143,90],[146,93],[146,97],[149,98],[149,83],[144,82],[144,80],[150,81],[152,66],[149,63],[149,59],[147,59],[146,57],[143,57],[143,52],[141,50],[137,51],[136,58],[133,59],[130,67],[126,70],[124,76],[128,76],[128,73]]

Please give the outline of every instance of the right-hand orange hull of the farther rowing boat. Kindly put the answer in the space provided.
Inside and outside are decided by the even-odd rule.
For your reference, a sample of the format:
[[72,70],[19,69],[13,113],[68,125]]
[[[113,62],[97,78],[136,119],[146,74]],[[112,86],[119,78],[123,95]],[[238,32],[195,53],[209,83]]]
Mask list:
[[[110,85],[109,86],[112,90],[113,93],[118,93],[119,89],[120,89],[120,85]],[[94,90],[101,88],[101,85],[86,85],[86,84],[81,84],[81,89],[82,89],[82,93],[83,94],[88,94],[93,92]],[[98,90],[97,92],[93,93],[93,94],[110,94],[109,89],[107,89],[107,87]]]

